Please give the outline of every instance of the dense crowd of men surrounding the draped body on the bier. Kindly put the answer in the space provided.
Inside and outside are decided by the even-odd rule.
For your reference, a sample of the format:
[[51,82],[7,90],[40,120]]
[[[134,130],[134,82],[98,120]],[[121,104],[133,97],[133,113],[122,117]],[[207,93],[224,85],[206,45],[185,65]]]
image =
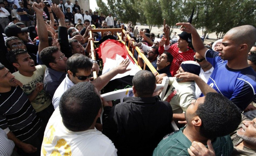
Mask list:
[[[120,32],[89,31],[122,22],[83,14],[78,1],[9,3],[0,8],[0,155],[256,155],[255,27],[232,28],[210,47],[190,23],[171,35],[164,21],[155,38],[129,22],[124,40],[157,72],[135,73],[134,96],[116,104],[100,93],[131,60],[101,74],[88,42],[117,40]],[[155,88],[166,76],[161,99]]]

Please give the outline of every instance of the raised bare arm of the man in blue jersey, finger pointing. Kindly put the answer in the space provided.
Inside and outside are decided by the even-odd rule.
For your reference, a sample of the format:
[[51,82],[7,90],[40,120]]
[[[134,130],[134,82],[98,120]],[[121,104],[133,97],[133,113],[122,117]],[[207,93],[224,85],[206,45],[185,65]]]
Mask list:
[[[205,57],[205,53],[208,50],[205,45],[203,45],[203,41],[201,40],[197,30],[190,23],[176,23],[176,25],[180,25],[181,31],[185,31],[187,33],[191,33],[192,35],[192,44],[196,52]],[[183,28],[185,27],[185,28]]]

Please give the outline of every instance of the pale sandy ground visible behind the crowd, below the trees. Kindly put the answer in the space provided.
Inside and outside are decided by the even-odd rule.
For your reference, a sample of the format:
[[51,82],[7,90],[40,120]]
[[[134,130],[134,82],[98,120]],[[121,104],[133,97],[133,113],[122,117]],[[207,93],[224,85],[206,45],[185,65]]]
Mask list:
[[[127,25],[126,25],[127,26]],[[143,26],[143,25],[136,25],[138,26],[138,30],[139,29],[142,29],[142,28],[149,28],[149,26]],[[179,28],[174,28],[173,30],[173,33],[176,32],[177,34],[180,34],[182,33],[182,31],[179,30]],[[201,29],[198,29],[197,32],[199,33],[200,36],[202,36],[202,30]],[[155,34],[155,37],[157,37],[158,34],[161,34],[163,33],[163,27],[152,27],[151,29],[151,33],[154,33]],[[172,35],[173,35],[172,33]],[[215,42],[217,40],[217,36],[215,35],[215,33],[211,33],[209,34],[209,39],[205,39],[205,44],[208,44],[208,43],[211,43],[211,42]]]

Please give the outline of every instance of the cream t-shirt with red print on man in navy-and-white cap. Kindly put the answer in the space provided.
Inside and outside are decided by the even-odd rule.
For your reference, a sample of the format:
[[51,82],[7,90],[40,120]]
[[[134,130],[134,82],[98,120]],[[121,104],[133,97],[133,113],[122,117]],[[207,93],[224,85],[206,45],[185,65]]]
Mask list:
[[195,99],[195,83],[178,83],[176,77],[169,77],[169,79],[169,85],[171,86],[163,101],[171,104],[173,113],[183,113],[187,110],[191,101]]

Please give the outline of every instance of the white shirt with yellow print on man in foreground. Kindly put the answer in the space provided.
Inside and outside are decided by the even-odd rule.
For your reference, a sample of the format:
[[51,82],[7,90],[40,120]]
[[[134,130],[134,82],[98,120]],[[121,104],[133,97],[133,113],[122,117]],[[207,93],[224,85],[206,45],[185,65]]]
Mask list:
[[117,149],[109,138],[95,128],[82,132],[68,130],[57,108],[47,123],[41,148],[41,155],[50,154],[117,156]]

